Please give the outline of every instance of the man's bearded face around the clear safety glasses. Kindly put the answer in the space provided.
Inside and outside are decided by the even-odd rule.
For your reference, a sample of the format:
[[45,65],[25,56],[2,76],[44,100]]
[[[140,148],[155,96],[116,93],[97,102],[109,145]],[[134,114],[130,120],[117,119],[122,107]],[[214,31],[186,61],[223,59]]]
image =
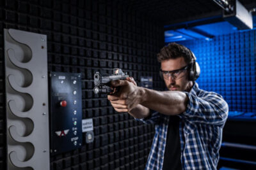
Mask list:
[[[173,71],[187,66],[183,57],[177,59],[168,59],[161,62],[162,71]],[[175,73],[173,73],[175,75]],[[164,76],[164,75],[163,75]],[[164,82],[166,87],[171,91],[189,91],[191,87],[191,81],[188,81],[188,71],[183,70],[179,72],[177,78],[173,76],[164,76]]]

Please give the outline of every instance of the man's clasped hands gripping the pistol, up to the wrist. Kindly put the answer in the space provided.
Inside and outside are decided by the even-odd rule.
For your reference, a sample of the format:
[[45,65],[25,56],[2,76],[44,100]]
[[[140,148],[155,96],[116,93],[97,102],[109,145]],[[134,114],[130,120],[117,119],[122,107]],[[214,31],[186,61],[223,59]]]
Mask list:
[[132,77],[126,80],[111,81],[112,87],[120,87],[120,91],[114,95],[108,95],[108,100],[118,112],[129,112],[141,103],[140,87]]

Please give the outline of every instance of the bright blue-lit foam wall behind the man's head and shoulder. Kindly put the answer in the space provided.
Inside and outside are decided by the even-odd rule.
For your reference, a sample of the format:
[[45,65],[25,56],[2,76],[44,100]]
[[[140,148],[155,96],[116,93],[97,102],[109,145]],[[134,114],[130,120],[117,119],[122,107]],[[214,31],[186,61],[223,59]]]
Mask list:
[[200,64],[200,89],[221,94],[230,111],[256,113],[256,31],[245,31],[204,39],[180,41],[196,55]]

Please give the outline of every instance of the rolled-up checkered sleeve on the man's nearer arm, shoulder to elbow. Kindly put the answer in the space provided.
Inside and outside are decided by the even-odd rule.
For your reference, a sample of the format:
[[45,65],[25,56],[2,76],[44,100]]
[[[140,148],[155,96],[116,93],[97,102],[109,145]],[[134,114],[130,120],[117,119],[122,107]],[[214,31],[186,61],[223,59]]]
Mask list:
[[228,117],[228,104],[214,92],[207,92],[202,96],[195,96],[186,92],[188,106],[186,111],[179,115],[189,122],[202,124],[223,125]]

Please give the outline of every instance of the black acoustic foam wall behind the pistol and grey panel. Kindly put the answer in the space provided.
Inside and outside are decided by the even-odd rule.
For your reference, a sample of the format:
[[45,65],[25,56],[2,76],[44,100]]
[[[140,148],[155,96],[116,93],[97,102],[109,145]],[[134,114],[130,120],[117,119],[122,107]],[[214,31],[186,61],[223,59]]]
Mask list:
[[0,169],[6,165],[4,28],[46,34],[48,71],[82,73],[83,118],[93,118],[95,139],[51,157],[51,169],[143,169],[154,126],[116,113],[106,96],[95,96],[93,74],[119,67],[138,83],[140,76],[154,76],[160,87],[156,53],[164,45],[163,26],[118,1],[0,3]]

